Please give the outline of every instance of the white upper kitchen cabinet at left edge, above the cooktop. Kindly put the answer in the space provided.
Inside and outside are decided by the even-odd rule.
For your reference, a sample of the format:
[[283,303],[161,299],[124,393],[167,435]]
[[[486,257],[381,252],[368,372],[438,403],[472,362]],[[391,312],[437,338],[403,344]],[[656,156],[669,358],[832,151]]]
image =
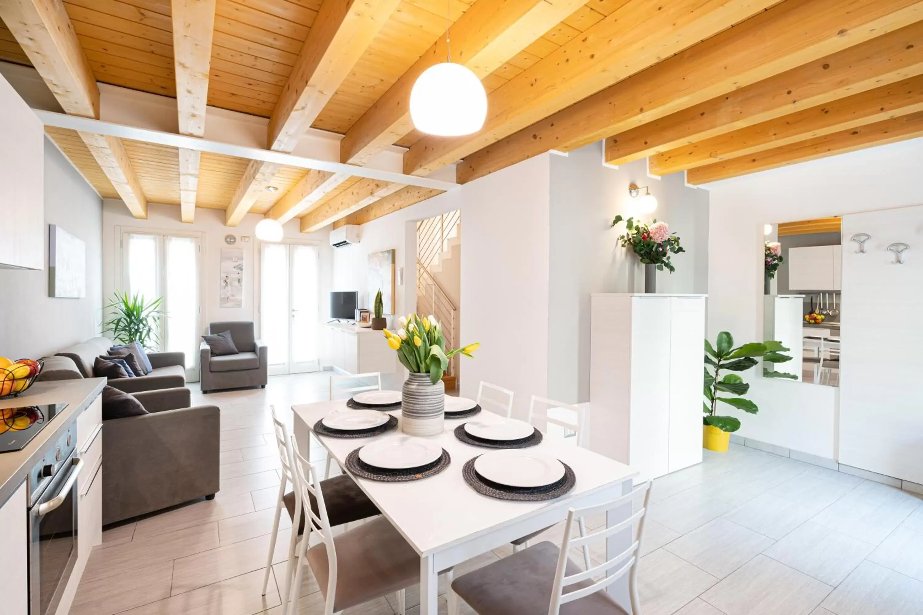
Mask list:
[[44,127],[0,76],[0,267],[42,269]]

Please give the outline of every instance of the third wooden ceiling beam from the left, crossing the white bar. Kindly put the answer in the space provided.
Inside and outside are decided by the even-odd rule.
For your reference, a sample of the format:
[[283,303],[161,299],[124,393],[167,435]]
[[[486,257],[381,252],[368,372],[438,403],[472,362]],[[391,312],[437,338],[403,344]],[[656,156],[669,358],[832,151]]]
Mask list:
[[[324,0],[272,110],[267,129],[270,149],[294,150],[400,1]],[[269,162],[250,163],[225,213],[227,226],[246,216],[278,169]],[[306,206],[295,203],[290,209],[299,207]]]

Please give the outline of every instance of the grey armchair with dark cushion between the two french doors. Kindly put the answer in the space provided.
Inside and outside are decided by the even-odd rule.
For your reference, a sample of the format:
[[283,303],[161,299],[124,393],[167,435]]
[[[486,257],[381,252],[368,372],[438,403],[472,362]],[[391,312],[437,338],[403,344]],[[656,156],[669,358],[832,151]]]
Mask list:
[[265,387],[269,379],[269,349],[253,333],[250,321],[225,321],[211,323],[209,334],[231,332],[238,354],[211,356],[211,349],[204,341],[199,347],[199,382],[202,393],[216,389]]

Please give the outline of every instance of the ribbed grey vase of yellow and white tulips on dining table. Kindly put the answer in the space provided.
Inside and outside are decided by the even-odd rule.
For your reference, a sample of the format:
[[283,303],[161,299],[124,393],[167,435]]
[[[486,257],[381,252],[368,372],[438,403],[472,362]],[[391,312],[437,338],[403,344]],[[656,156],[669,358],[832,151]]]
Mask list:
[[457,354],[471,357],[479,344],[447,350],[442,325],[436,316],[415,313],[400,319],[401,329],[385,329],[388,345],[397,351],[398,360],[410,372],[402,386],[401,429],[410,435],[442,433],[445,421],[446,386],[442,374]]

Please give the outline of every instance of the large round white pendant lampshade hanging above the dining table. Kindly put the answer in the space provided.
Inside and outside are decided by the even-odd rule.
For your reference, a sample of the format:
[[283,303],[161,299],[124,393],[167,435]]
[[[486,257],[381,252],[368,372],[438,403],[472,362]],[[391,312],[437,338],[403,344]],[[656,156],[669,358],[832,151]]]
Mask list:
[[452,62],[432,65],[410,92],[414,128],[428,135],[476,133],[487,116],[487,94],[471,70]]

